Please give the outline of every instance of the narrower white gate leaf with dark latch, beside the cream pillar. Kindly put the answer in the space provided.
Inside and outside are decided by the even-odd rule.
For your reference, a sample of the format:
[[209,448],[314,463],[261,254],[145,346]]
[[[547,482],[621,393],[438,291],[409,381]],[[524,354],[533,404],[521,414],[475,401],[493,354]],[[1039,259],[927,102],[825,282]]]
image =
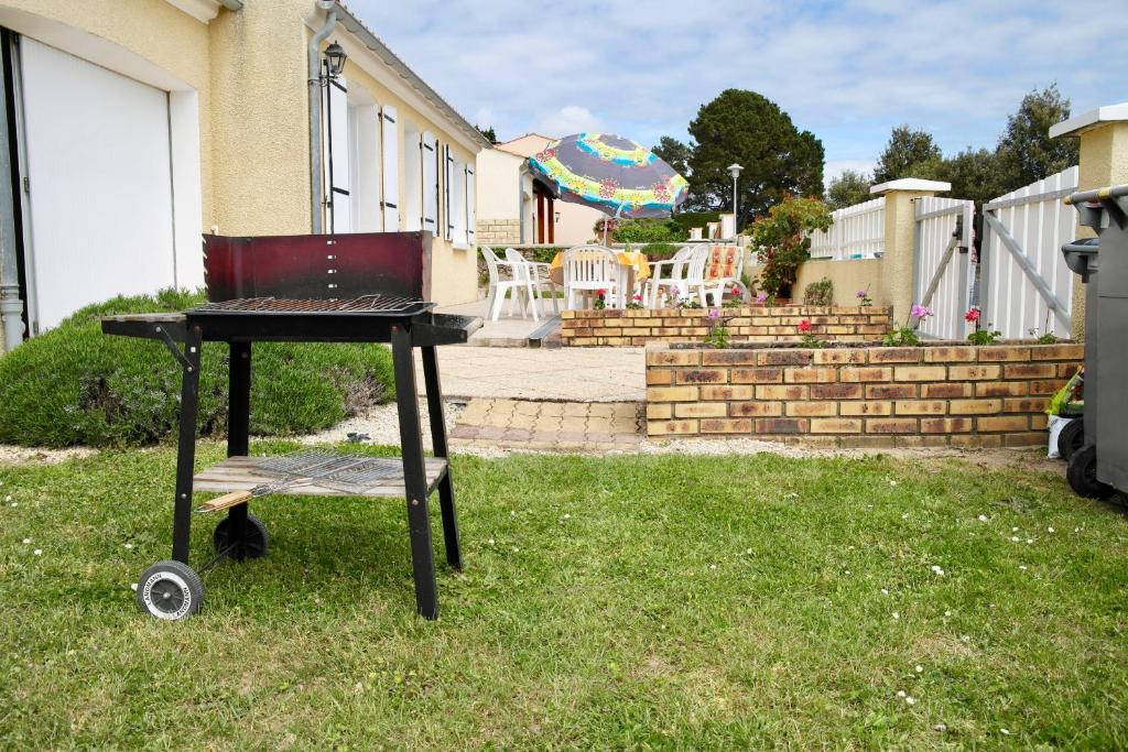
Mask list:
[[927,196],[916,201],[916,268],[913,300],[935,312],[919,333],[940,339],[964,337],[963,315],[971,304],[971,248],[975,202]]

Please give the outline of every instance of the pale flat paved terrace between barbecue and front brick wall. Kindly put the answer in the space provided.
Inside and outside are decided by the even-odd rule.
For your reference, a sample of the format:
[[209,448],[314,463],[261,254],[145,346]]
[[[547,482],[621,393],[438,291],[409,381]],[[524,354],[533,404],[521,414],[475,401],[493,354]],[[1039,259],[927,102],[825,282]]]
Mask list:
[[[572,402],[641,402],[646,396],[642,347],[439,348],[444,397]],[[423,374],[416,355],[416,379]]]

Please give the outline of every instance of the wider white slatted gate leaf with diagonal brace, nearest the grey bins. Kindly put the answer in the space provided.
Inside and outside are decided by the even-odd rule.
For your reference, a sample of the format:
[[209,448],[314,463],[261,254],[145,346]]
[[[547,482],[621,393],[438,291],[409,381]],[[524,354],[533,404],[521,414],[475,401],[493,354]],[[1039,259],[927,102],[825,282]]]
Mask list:
[[982,325],[1004,337],[1069,336],[1073,273],[1061,246],[1076,235],[1077,213],[1061,200],[1077,179],[1070,167],[984,206]]

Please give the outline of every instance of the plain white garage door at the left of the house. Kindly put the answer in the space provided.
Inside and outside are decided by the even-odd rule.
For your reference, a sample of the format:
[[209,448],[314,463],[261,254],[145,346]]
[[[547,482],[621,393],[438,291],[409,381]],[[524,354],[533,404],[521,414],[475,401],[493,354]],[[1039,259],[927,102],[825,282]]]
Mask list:
[[168,95],[20,41],[33,322],[173,286]]

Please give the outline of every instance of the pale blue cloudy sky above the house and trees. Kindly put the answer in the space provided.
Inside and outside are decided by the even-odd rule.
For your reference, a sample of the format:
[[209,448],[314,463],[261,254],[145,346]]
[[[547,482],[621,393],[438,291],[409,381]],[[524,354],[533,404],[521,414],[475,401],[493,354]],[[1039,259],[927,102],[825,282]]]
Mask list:
[[896,125],[992,147],[1057,81],[1078,114],[1128,100],[1128,0],[350,0],[391,50],[502,140],[529,131],[687,140],[726,88],[776,101],[869,169]]

